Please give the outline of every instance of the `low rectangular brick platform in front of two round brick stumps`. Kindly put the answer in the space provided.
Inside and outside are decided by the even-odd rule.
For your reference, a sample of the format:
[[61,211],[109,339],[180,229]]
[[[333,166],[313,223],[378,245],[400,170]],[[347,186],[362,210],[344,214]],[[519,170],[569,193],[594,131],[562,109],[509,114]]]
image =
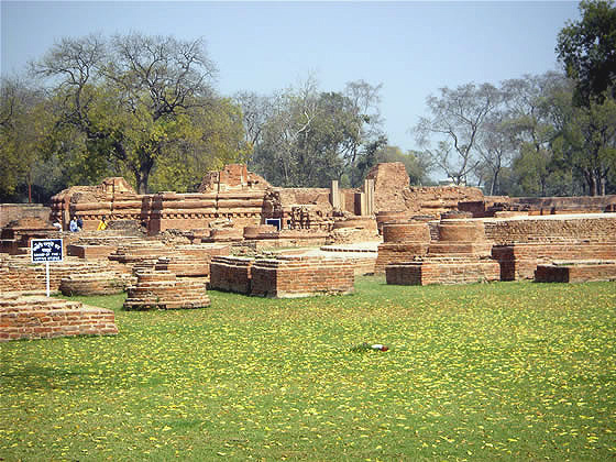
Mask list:
[[499,280],[501,267],[492,260],[429,258],[389,264],[385,275],[393,285],[471,284]]

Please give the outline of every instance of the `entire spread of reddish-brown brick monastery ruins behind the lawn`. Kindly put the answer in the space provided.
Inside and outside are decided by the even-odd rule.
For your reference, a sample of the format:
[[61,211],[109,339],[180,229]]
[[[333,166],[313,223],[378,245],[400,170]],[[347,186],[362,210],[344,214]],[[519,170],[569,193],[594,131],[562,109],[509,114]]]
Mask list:
[[[616,280],[615,211],[616,196],[413,187],[400,163],[374,166],[360,188],[273,187],[245,165],[208,173],[194,194],[138,195],[107,178],[58,193],[51,209],[0,206],[0,341],[118,331],[112,311],[41,297],[32,239],[63,239],[53,292],[127,292],[125,309],[178,309],[209,306],[208,287],[351,294],[372,273],[395,285]],[[68,232],[76,216],[84,229]]]

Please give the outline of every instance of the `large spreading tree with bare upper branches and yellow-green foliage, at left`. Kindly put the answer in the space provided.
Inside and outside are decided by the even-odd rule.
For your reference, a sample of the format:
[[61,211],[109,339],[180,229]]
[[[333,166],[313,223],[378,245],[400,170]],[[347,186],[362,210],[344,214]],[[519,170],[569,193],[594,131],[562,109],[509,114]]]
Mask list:
[[[238,138],[237,123],[219,123],[219,129],[231,131],[219,136],[202,124],[210,111],[227,110],[229,102],[211,88],[216,68],[201,40],[138,33],[110,41],[96,35],[64,38],[34,63],[33,70],[51,79],[57,114],[55,138],[78,140],[78,133],[85,146],[78,150],[82,164],[99,175],[119,172],[128,176],[141,194],[147,193],[158,164],[158,183],[168,185],[170,158],[186,161],[196,153],[220,156],[185,162],[187,167],[198,167],[241,155],[243,133]],[[218,121],[226,117],[229,111]],[[233,117],[239,120],[238,113]],[[229,144],[216,147],[222,140]],[[208,142],[212,145],[206,147]],[[75,156],[72,161],[80,164]],[[194,182],[186,175],[178,178],[184,182],[180,188]]]

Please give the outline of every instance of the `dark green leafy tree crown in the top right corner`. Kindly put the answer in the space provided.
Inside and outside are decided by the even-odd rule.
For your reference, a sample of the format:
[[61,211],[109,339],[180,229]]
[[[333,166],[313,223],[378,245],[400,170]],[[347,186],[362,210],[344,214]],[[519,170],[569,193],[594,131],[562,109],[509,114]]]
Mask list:
[[557,53],[576,82],[576,106],[616,97],[616,8],[612,0],[583,0],[580,21],[558,35]]

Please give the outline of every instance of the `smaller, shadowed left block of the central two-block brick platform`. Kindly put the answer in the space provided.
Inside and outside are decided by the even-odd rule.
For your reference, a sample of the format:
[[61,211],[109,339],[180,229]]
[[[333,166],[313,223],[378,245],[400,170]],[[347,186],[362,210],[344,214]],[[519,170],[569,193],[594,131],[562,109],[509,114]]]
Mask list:
[[249,295],[254,258],[215,256],[210,264],[209,287],[217,290]]

